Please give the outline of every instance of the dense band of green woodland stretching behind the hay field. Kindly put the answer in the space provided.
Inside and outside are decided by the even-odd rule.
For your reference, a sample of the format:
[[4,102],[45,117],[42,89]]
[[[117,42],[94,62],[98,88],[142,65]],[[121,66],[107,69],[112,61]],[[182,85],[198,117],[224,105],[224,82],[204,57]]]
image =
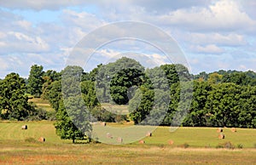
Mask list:
[[[66,83],[61,81],[63,78],[67,80]],[[77,78],[77,81],[73,78]],[[174,114],[180,111],[177,107],[181,86],[183,97],[187,97],[183,101],[192,99],[183,126],[256,128],[255,72],[221,70],[191,75],[183,65],[166,64],[148,69],[136,60],[125,57],[108,65],[97,65],[89,73],[79,66],[67,66],[61,72],[44,71],[42,65],[32,65],[27,79],[17,73],[9,73],[0,80],[1,118],[19,121],[55,120],[57,130],[58,127],[60,130],[63,127],[73,127],[75,130],[75,125],[85,125],[84,132],[90,131],[91,121],[86,124],[73,123],[71,113],[92,116],[90,120],[96,121],[133,121],[135,124],[155,125],[158,112],[154,108],[157,106],[154,98],[159,98],[157,101],[161,102],[169,97],[169,105],[166,105],[168,111],[160,124],[170,125]],[[187,86],[193,88],[186,91]],[[74,94],[73,91],[78,92]],[[38,109],[28,102],[29,95],[49,100],[55,112]],[[68,100],[64,104],[65,96],[68,96]],[[128,105],[130,113],[111,113],[101,103]],[[73,108],[73,105],[81,106]],[[90,115],[83,112],[84,108],[90,111]],[[70,111],[69,116],[67,111]],[[155,118],[145,121],[150,111],[155,111]],[[63,139],[67,138],[67,134],[59,134],[62,134]],[[72,136],[79,134],[82,133],[74,131]]]

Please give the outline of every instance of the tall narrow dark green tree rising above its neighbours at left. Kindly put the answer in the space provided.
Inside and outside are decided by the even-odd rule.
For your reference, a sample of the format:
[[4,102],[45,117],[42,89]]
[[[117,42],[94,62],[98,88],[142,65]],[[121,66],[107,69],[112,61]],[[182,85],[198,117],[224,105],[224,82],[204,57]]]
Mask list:
[[32,65],[28,83],[27,83],[27,92],[34,95],[35,97],[40,97],[42,94],[42,88],[44,84],[44,71],[42,65]]

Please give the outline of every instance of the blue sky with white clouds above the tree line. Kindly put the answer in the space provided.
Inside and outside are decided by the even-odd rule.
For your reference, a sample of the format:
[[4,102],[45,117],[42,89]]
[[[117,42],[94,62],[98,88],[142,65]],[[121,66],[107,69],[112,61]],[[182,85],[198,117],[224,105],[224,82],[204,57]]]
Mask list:
[[[0,78],[10,72],[28,77],[35,64],[43,65],[44,71],[61,71],[84,37],[127,20],[156,26],[172,37],[193,74],[256,71],[255,9],[256,0],[1,0]],[[154,36],[152,31],[142,32]],[[173,62],[149,43],[124,39],[103,45],[96,51],[100,55],[84,64],[84,71],[129,51],[142,63],[145,58],[155,65]]]

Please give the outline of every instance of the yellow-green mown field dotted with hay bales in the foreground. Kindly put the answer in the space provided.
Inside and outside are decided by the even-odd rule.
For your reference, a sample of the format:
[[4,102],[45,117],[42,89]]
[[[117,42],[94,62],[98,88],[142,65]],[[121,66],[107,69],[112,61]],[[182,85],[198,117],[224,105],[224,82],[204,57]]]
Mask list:
[[[26,124],[27,130],[21,126]],[[108,123],[108,127],[130,125]],[[107,127],[98,126],[101,130]],[[55,135],[53,122],[0,122],[0,164],[255,164],[256,130],[224,128],[225,139],[218,139],[216,128],[156,128],[145,144],[72,144]],[[38,138],[44,136],[44,143]],[[36,141],[29,141],[28,138]],[[168,145],[172,139],[173,145]],[[125,139],[124,139],[125,142]],[[231,142],[236,148],[216,149]],[[184,148],[188,144],[188,148]],[[237,146],[242,145],[242,149]]]

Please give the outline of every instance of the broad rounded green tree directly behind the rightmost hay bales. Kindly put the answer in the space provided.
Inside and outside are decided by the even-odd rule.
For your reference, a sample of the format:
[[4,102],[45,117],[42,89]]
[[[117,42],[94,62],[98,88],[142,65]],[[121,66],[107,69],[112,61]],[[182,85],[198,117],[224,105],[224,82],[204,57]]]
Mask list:
[[210,117],[212,126],[238,126],[240,97],[241,87],[235,83],[219,83],[213,86],[205,106],[207,113],[212,114]]

